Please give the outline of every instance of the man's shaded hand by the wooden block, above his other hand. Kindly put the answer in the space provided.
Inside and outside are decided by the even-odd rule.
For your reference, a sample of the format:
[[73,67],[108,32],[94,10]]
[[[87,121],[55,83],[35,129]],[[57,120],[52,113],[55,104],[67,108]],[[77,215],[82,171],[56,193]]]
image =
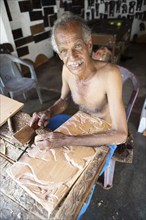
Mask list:
[[35,112],[32,115],[30,126],[33,127],[33,125],[37,123],[39,127],[44,128],[47,126],[50,117],[51,117],[50,110]]

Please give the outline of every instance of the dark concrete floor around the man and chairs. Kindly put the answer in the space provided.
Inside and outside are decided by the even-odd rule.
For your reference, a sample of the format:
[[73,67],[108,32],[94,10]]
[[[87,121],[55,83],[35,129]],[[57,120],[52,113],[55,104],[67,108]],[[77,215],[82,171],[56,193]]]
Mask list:
[[[137,132],[146,97],[146,44],[130,44],[120,65],[132,71],[140,82],[140,92],[129,120],[134,136],[132,164],[116,163],[114,185],[105,190],[97,185],[90,206],[82,220],[145,220],[146,219],[146,137]],[[49,107],[60,95],[62,63],[53,57],[37,69],[44,104],[33,94],[25,103],[24,112],[32,114]],[[71,106],[68,113],[76,109]]]

